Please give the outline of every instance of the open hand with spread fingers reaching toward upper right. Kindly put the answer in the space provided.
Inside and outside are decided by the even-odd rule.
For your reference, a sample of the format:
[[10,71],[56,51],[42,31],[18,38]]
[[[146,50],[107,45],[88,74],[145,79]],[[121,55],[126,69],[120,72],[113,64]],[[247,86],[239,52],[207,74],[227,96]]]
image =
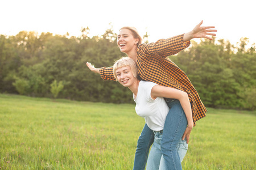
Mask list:
[[185,42],[197,38],[212,40],[212,38],[209,36],[216,36],[216,33],[212,33],[217,32],[217,29],[212,29],[215,28],[214,26],[201,27],[201,24],[203,24],[203,20],[198,25],[196,25],[196,27],[191,32],[184,34],[183,41]]

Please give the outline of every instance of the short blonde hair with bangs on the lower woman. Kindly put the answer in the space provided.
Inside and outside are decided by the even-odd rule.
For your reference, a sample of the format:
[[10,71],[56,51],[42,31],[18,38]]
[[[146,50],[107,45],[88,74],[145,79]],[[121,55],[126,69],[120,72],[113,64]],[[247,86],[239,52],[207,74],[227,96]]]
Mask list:
[[113,65],[113,74],[114,74],[115,80],[117,80],[117,74],[115,73],[115,70],[117,70],[121,67],[126,67],[126,66],[130,66],[131,73],[133,73],[133,76],[135,78],[137,78],[138,70],[137,70],[135,61],[133,59],[131,59],[130,57],[122,57],[122,58],[118,59],[117,61],[115,61],[114,65]]

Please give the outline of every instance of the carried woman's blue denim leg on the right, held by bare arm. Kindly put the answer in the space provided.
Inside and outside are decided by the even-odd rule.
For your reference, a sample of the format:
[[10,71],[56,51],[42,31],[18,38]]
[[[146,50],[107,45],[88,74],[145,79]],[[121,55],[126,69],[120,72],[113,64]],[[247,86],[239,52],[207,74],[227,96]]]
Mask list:
[[180,105],[179,100],[167,101],[170,108],[164,123],[161,151],[163,154],[159,169],[182,169],[177,145],[187,128],[187,118]]

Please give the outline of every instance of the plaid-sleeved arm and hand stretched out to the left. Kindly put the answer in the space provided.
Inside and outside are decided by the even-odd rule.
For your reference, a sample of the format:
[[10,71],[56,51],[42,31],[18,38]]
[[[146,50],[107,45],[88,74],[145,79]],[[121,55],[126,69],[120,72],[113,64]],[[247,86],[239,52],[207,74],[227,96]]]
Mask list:
[[115,81],[112,67],[95,68],[90,62],[86,62],[87,67],[94,73],[100,74],[103,80]]

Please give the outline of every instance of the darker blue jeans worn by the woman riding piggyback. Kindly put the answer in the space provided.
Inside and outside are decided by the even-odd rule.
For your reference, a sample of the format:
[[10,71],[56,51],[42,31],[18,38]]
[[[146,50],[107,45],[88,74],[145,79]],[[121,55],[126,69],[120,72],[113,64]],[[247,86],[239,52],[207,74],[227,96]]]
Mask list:
[[[164,158],[163,161],[161,161],[160,163],[160,167],[166,169],[182,169],[176,146],[179,144],[179,140],[182,137],[185,129],[187,128],[187,118],[185,117],[185,113],[180,105],[179,100],[167,99],[167,105],[170,108],[170,111],[168,112],[166,117],[162,143],[160,143],[162,147],[161,151]],[[134,170],[145,169],[148,152],[153,142],[154,133],[150,128],[148,128],[147,124],[145,124],[142,133],[138,139],[137,149],[134,158]]]

